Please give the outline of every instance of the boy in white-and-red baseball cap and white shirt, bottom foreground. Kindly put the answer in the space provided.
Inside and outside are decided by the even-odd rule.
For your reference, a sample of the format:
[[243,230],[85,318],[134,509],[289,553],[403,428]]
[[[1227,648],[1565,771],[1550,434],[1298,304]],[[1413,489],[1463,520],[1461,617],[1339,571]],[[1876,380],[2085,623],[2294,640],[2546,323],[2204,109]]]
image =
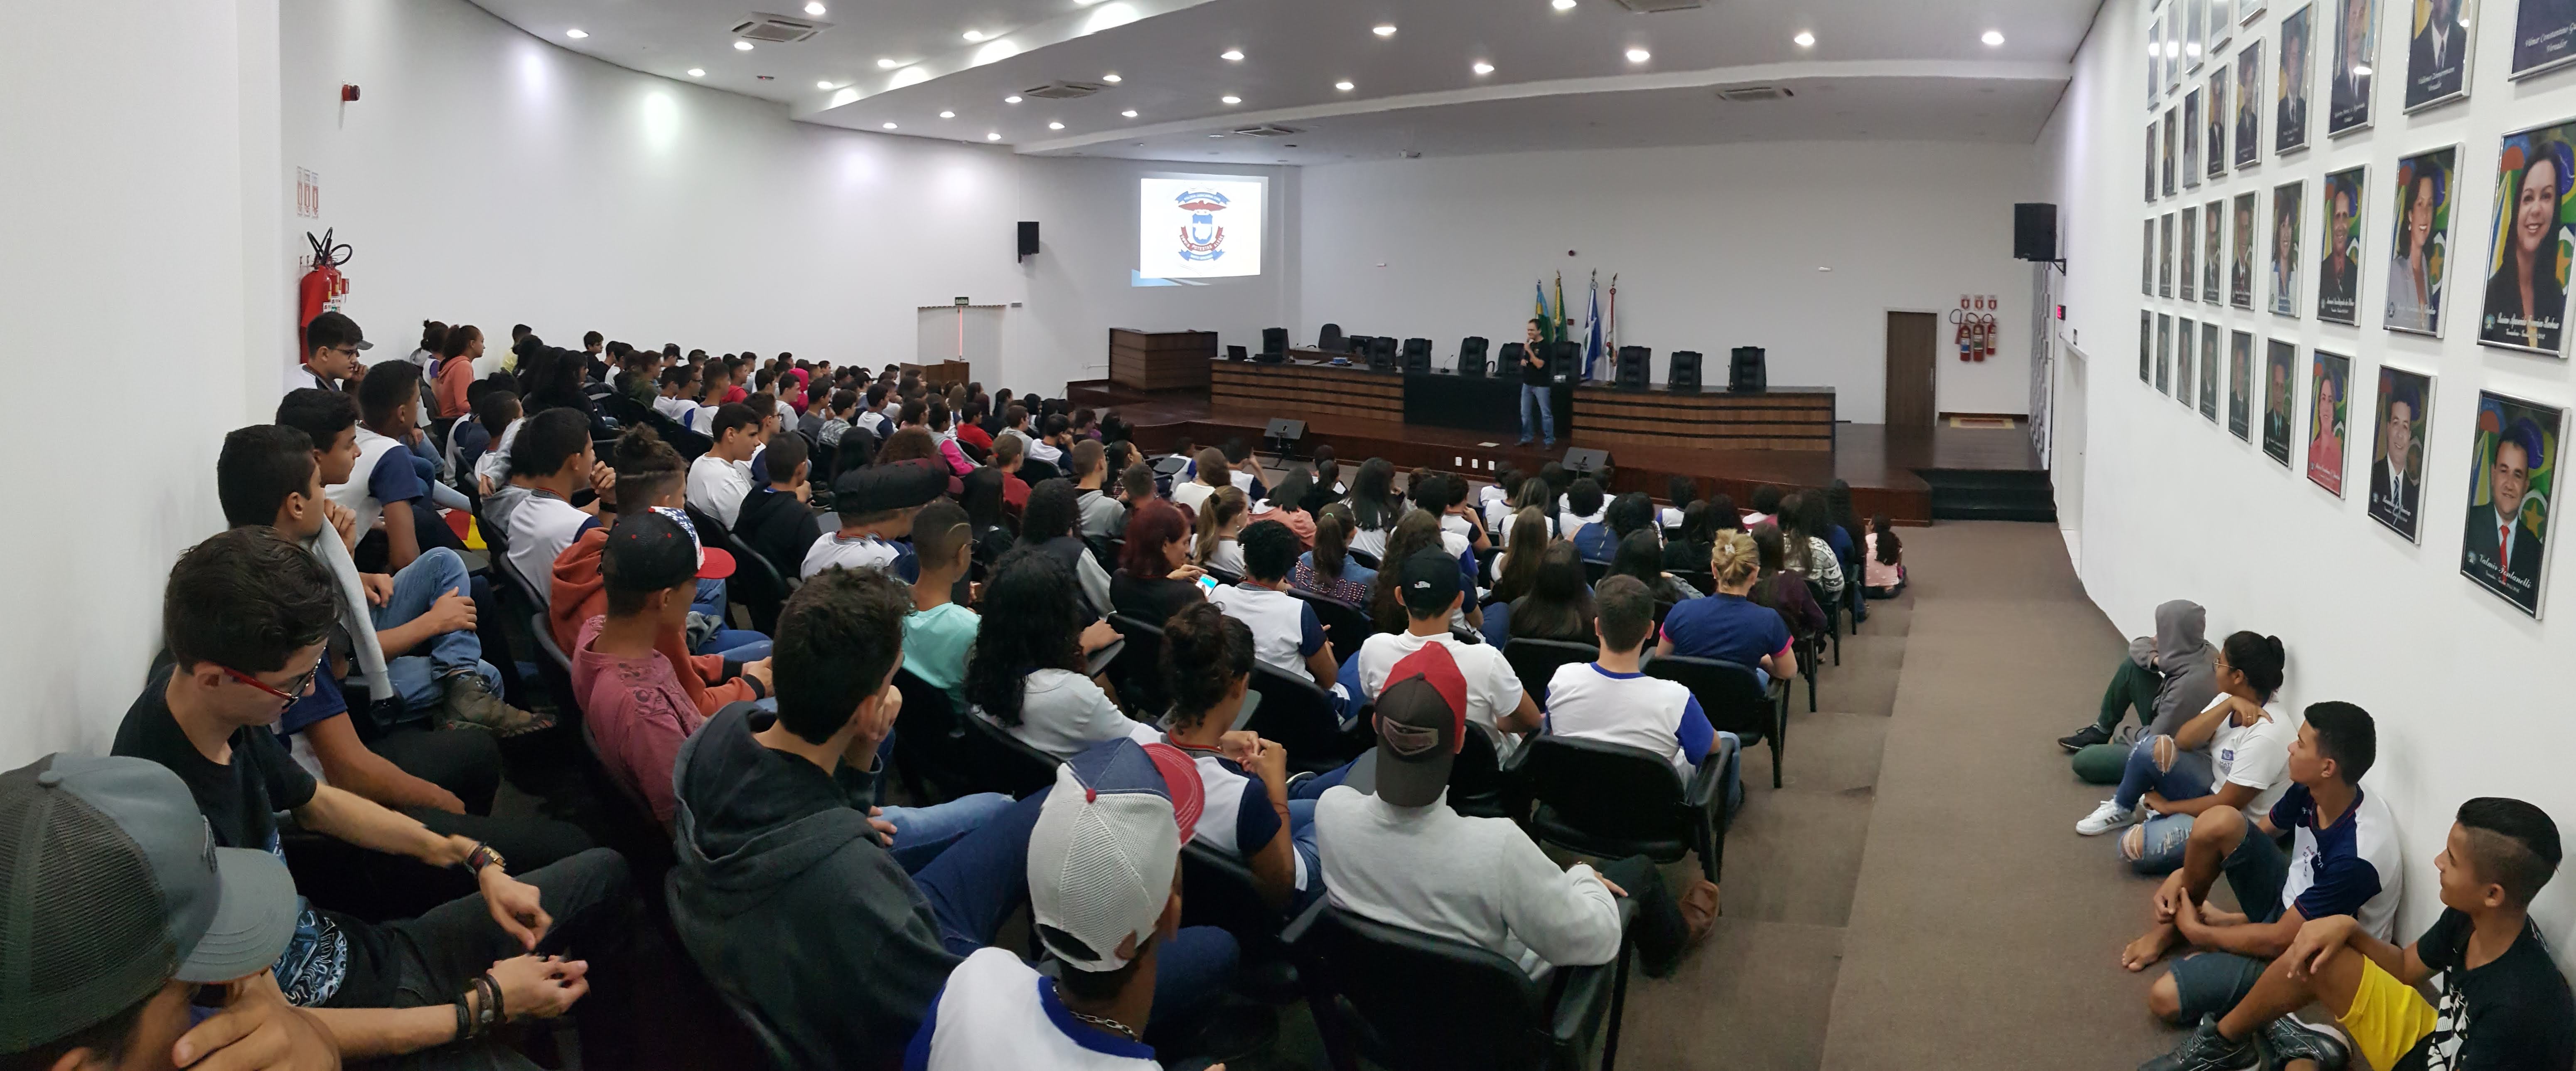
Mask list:
[[1144,1043],[1157,960],[1234,955],[1224,929],[1180,929],[1180,844],[1200,803],[1198,770],[1170,744],[1118,739],[1056,767],[1028,832],[1028,901],[1059,976],[976,950],[930,1004],[904,1068],[1159,1068]]

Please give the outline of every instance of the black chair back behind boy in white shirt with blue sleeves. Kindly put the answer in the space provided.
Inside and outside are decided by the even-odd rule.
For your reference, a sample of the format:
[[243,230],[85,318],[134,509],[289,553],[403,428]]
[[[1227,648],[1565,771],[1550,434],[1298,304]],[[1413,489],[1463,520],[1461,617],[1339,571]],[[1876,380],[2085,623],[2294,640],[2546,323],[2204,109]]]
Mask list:
[[1530,736],[1512,757],[1512,778],[1535,801],[1530,834],[1600,860],[1643,855],[1680,862],[1700,855],[1700,875],[1726,865],[1726,790],[1731,752],[1718,736],[1682,783],[1662,754],[1597,739]]

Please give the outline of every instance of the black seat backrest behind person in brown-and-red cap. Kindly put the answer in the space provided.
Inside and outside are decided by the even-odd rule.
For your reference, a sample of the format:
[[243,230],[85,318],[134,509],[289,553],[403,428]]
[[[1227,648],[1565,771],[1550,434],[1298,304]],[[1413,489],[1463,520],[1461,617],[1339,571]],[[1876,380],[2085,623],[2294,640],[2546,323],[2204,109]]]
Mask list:
[[1546,1053],[1546,994],[1494,950],[1334,906],[1321,909],[1298,950],[1386,1066],[1530,1068]]

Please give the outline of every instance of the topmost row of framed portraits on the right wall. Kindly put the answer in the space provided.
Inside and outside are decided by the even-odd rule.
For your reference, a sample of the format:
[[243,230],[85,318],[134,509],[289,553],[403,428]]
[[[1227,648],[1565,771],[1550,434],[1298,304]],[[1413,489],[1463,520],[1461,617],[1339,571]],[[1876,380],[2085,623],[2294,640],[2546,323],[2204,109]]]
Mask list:
[[[2470,90],[2470,62],[2476,59],[2478,0],[2398,0],[2406,13],[2406,70],[2403,108],[2421,111],[2452,100],[2465,100]],[[2576,59],[2576,0],[2491,0],[2514,3],[2514,46],[2509,77],[2530,77]],[[2195,111],[2192,98],[2208,93],[2210,160],[2218,165],[2223,126],[2228,113],[2228,75],[2236,85],[2236,144],[2239,165],[2249,165],[2259,147],[2262,100],[2262,39],[2246,28],[2246,44],[2233,62],[2221,51],[2236,36],[2236,26],[2254,23],[2267,0],[2172,0],[2148,15],[2146,100],[2156,111],[2161,98],[2195,75],[2184,93],[2184,111]],[[2326,13],[2318,13],[2326,8]],[[2298,152],[2308,144],[2311,95],[2311,41],[2316,23],[2334,15],[2329,39],[2331,64],[2326,67],[2326,136],[2370,126],[2372,85],[2380,70],[2380,0],[2318,0],[2280,21],[2280,51],[2272,77],[2275,152]],[[2210,70],[2208,85],[2197,85],[2197,72]],[[2172,193],[2172,191],[2166,191]]]

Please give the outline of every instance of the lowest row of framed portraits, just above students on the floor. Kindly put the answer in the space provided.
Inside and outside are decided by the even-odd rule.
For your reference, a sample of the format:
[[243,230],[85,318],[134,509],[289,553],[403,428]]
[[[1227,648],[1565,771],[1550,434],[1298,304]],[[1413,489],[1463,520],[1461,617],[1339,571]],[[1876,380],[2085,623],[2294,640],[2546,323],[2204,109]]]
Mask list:
[[[2262,345],[2262,414],[2257,417],[2257,345]],[[2347,497],[2347,440],[2352,427],[2352,358],[2308,350],[2300,376],[2298,342],[2257,340],[2254,332],[2192,322],[2172,312],[2138,312],[2138,381],[2197,409],[2213,425],[2226,409],[2226,430],[2257,440],[2280,466],[2293,466],[2295,386],[2308,402],[2308,435],[2298,466],[2311,484]],[[2432,443],[2434,376],[2380,366],[2370,420],[2370,520],[2424,543],[2424,469]],[[2468,502],[2460,523],[2460,574],[2506,605],[2540,618],[2550,505],[2558,489],[2558,448],[2566,409],[2496,391],[2478,391],[2468,430]]]

